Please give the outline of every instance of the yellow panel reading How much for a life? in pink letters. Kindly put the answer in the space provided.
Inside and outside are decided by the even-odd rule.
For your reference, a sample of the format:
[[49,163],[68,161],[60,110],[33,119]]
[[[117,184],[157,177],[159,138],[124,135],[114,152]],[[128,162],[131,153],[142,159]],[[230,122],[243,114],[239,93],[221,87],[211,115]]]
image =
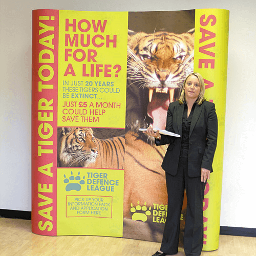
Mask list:
[[58,126],[125,127],[127,23],[124,12],[60,11]]

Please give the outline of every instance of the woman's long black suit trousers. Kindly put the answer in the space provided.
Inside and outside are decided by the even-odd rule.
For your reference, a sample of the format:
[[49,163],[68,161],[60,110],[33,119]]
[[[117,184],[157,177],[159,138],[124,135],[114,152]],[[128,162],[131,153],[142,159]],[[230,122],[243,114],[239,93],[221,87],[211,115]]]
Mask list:
[[203,248],[203,200],[205,184],[201,177],[189,178],[187,158],[180,157],[176,176],[165,173],[168,208],[160,250],[176,254],[179,245],[180,215],[184,188],[187,195],[187,212],[184,230],[186,256],[198,256]]

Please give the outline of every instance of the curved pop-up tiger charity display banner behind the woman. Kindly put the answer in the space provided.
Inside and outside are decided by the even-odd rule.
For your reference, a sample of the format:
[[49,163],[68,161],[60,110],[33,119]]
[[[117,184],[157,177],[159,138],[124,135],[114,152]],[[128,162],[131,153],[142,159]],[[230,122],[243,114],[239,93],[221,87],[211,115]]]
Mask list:
[[[161,242],[165,129],[185,77],[204,77],[218,144],[205,189],[204,247],[219,245],[229,11],[34,10],[32,231]],[[164,71],[163,71],[164,70]],[[181,212],[180,245],[186,215]]]

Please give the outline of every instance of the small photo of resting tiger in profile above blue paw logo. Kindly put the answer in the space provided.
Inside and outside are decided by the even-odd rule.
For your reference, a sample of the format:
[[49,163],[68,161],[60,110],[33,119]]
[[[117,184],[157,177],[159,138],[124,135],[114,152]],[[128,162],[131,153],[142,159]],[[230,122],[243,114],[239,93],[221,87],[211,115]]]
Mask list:
[[[106,129],[94,130],[107,136]],[[124,135],[100,139],[94,132],[91,127],[59,127],[58,167],[124,169]]]

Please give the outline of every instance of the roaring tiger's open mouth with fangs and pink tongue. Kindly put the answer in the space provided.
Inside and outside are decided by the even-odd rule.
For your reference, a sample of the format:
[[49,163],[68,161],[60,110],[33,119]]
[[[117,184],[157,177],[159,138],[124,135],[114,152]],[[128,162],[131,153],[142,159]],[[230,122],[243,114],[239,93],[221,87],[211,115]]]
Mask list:
[[148,91],[147,115],[153,120],[153,128],[164,130],[170,102],[174,101],[175,88],[150,88]]

